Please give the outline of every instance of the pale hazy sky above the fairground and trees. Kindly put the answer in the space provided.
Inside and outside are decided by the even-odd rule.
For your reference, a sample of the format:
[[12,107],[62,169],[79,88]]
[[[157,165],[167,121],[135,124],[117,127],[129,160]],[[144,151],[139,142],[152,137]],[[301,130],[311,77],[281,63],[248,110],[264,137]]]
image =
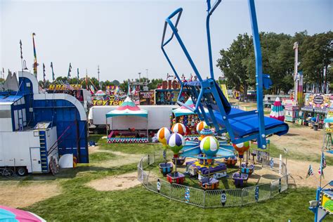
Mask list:
[[[214,0],[212,1],[214,2]],[[0,0],[0,68],[21,69],[20,45],[32,72],[32,32],[36,33],[39,80],[42,63],[51,79],[80,77],[86,69],[100,80],[166,77],[172,73],[160,49],[165,18],[183,8],[178,32],[202,76],[209,72],[205,30],[206,1],[6,1]],[[261,32],[309,34],[333,29],[332,0],[257,0],[256,11]],[[238,34],[251,34],[246,0],[223,0],[211,17],[211,42],[216,64],[218,51],[228,48]],[[292,50],[292,46],[290,46]],[[176,41],[168,46],[178,73],[192,72]],[[301,52],[300,52],[301,53]],[[221,74],[215,67],[216,77]],[[193,73],[193,72],[192,72]]]

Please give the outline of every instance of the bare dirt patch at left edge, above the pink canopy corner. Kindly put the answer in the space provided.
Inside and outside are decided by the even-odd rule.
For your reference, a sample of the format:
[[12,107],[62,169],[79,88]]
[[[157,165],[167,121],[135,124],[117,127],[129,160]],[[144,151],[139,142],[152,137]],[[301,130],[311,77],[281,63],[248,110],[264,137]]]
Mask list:
[[0,184],[0,205],[8,207],[28,207],[60,194],[60,188],[55,183],[13,185],[1,181]]

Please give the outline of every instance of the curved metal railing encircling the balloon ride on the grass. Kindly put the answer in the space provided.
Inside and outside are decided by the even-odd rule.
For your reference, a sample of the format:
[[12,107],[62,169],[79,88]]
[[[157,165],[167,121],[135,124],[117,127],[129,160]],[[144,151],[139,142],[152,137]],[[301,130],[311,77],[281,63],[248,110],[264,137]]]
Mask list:
[[[280,178],[270,183],[226,190],[202,190],[186,185],[169,183],[162,178],[150,175],[150,171],[145,171],[145,168],[154,164],[156,159],[157,155],[155,153],[142,157],[140,162],[138,162],[138,181],[148,190],[156,192],[170,200],[192,204],[197,207],[239,207],[270,200],[288,189],[287,166],[280,159],[273,158],[273,164],[271,162],[272,158],[268,157],[263,157],[262,161],[259,161],[262,166],[279,172]],[[162,155],[159,159],[162,159]]]

